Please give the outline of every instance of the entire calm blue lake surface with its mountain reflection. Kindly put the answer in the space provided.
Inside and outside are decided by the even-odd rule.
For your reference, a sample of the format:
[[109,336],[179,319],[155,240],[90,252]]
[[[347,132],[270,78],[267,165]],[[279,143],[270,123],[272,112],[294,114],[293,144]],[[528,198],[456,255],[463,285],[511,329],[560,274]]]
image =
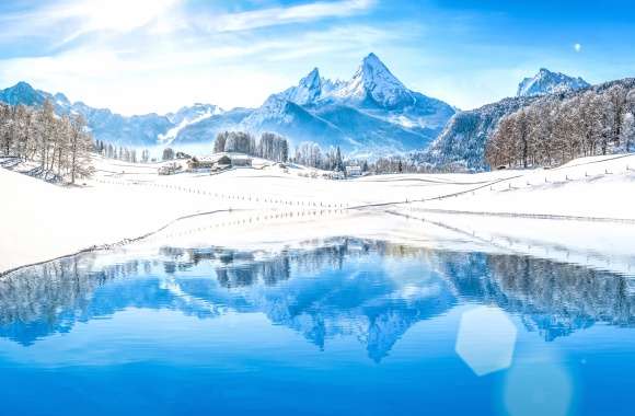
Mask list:
[[0,280],[1,415],[632,415],[633,276],[333,239]]

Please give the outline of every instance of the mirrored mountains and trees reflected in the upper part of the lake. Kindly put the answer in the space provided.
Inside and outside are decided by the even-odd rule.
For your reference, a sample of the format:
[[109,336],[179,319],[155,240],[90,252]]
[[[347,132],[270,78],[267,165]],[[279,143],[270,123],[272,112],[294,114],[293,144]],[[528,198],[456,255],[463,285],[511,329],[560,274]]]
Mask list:
[[91,253],[22,269],[0,280],[0,336],[28,346],[130,308],[199,319],[258,312],[320,348],[355,336],[380,361],[415,323],[464,302],[518,314],[547,342],[598,322],[635,322],[628,276],[524,256],[333,239],[275,254]]

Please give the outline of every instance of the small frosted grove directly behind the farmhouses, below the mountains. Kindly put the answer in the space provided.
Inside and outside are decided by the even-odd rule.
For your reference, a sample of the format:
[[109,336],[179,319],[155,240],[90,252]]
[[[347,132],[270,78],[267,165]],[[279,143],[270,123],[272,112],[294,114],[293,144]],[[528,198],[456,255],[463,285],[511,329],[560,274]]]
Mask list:
[[264,132],[259,140],[244,131],[223,131],[216,137],[213,151],[238,152],[264,158],[276,162],[289,159],[289,142],[273,132]]

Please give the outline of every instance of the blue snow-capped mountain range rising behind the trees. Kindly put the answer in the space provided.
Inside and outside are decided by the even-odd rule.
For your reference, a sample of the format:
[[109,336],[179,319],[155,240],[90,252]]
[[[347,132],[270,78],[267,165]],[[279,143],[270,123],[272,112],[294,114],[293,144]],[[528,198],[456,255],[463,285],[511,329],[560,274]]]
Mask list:
[[370,54],[348,81],[330,80],[315,68],[297,85],[270,95],[257,108],[226,111],[197,103],[164,115],[123,116],[82,102],[71,103],[61,93],[36,90],[26,82],[0,90],[0,101],[37,106],[49,100],[58,114],[82,114],[95,139],[119,146],[206,148],[224,130],[255,135],[273,131],[292,145],[313,141],[322,148],[338,146],[350,157],[427,150],[428,161],[447,162],[482,159],[483,143],[498,120],[535,96],[587,86],[581,78],[541,69],[520,83],[517,97],[461,112],[409,90],[377,55]]

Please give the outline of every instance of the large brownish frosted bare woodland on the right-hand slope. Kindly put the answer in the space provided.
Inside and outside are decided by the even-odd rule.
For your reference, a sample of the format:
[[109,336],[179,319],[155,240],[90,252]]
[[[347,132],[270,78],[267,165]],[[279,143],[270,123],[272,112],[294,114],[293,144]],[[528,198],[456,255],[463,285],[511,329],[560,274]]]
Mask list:
[[549,96],[500,120],[485,150],[490,166],[551,166],[635,149],[635,89],[614,84],[565,100]]

